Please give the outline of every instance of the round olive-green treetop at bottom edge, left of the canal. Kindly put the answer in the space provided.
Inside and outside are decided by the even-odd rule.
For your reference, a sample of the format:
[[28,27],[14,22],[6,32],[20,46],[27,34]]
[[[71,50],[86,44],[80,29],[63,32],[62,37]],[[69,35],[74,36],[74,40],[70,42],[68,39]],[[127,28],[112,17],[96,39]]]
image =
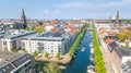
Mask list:
[[62,71],[60,70],[58,63],[56,62],[49,62],[44,66],[44,71],[46,73],[62,73]]

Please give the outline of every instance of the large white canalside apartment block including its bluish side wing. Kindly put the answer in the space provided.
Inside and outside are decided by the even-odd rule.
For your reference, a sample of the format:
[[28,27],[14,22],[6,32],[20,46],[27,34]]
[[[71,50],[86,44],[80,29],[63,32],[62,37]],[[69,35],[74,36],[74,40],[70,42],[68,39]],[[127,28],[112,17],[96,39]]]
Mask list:
[[49,33],[50,32],[45,32],[43,34],[24,37],[22,40],[22,48],[27,50],[28,53],[38,51],[38,53],[41,54],[45,52],[50,54],[56,54],[58,52],[64,54],[73,41],[71,35],[62,34],[62,36],[52,37],[50,35],[51,33]]

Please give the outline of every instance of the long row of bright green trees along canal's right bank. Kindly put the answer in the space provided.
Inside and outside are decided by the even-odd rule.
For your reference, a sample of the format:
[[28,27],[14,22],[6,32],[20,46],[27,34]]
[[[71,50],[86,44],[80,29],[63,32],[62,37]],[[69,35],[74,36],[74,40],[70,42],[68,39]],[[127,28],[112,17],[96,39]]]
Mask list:
[[106,73],[105,63],[104,63],[103,54],[96,37],[94,23],[92,23],[92,27],[93,27],[94,52],[95,52],[95,70],[96,70],[96,73]]

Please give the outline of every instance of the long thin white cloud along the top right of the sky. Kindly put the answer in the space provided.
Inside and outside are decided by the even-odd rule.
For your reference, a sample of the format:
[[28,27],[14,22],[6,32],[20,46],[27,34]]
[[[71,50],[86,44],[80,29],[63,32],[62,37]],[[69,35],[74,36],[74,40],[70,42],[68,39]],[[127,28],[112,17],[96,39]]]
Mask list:
[[126,7],[130,5],[131,0],[121,0],[121,1],[109,1],[109,2],[99,2],[94,3],[94,1],[88,1],[88,2],[68,2],[68,3],[62,3],[59,4],[58,8],[61,9],[104,9],[104,8],[120,8],[120,7]]

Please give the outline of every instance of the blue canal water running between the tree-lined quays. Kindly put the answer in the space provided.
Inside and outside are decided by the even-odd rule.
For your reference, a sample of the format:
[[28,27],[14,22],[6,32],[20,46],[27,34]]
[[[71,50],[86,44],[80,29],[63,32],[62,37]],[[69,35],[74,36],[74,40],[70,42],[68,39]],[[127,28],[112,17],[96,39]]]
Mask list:
[[[86,31],[80,49],[76,52],[76,57],[67,64],[67,69],[62,73],[86,73],[86,68],[90,64],[90,42],[91,42],[91,32]],[[81,49],[85,47],[85,51],[82,52]]]

